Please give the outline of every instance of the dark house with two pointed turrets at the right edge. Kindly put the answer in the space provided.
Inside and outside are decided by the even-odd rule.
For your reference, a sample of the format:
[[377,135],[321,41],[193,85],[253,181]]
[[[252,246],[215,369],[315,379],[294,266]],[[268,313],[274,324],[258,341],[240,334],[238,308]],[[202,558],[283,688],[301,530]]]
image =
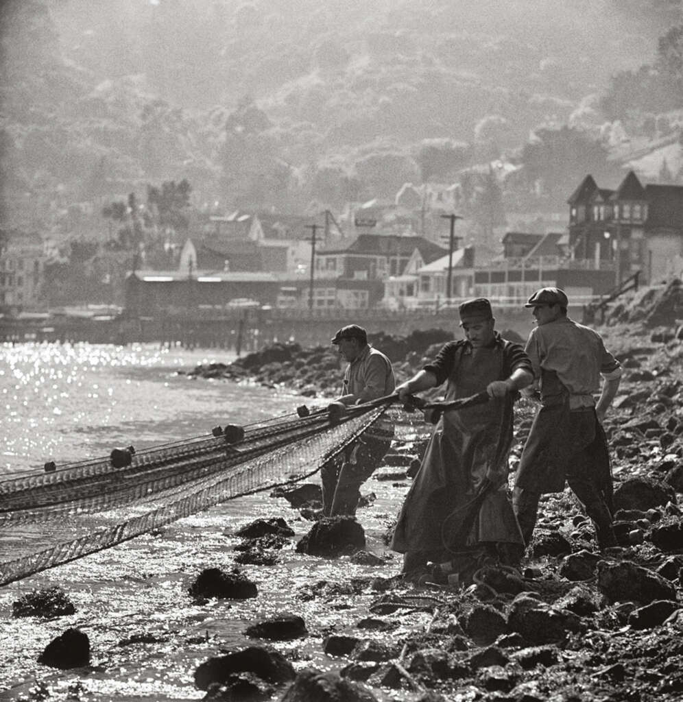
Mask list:
[[633,171],[616,190],[586,176],[569,198],[575,260],[614,265],[616,283],[639,272],[654,284],[683,269],[683,186],[642,185]]

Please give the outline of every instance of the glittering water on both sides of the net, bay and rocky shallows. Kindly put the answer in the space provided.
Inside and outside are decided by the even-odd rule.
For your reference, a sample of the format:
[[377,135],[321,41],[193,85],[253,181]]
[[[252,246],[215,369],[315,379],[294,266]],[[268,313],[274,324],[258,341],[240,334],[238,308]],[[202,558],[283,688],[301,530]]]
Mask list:
[[[106,456],[116,445],[144,448],[203,435],[216,424],[245,424],[315,402],[178,374],[199,363],[226,360],[224,355],[152,345],[3,345],[0,472],[42,470],[48,459],[63,463]],[[364,486],[364,493],[370,491],[377,499],[359,510],[359,520],[369,550],[387,555],[381,569],[296,554],[296,541],[311,523],[265,491],[0,588],[0,699],[29,694],[33,681],[46,685],[52,699],[200,699],[205,693],[195,689],[192,678],[197,665],[221,649],[263,643],[248,640],[242,632],[253,618],[281,611],[303,616],[309,636],[275,647],[296,668],[338,668],[340,661],[321,653],[324,635],[347,628],[358,634],[352,624],[366,616],[367,604],[377,595],[366,591],[357,597],[305,600],[299,588],[323,579],[347,582],[353,576],[390,576],[399,570],[398,557],[387,552],[382,537],[405,486],[371,479]],[[281,552],[279,564],[240,567],[256,582],[258,597],[194,604],[187,587],[199,571],[234,564],[232,549],[239,543],[234,531],[256,517],[276,516],[286,519],[296,538]],[[53,585],[64,588],[76,614],[52,621],[11,617],[15,600]],[[419,623],[424,616],[416,614],[408,621]],[[44,647],[69,627],[88,634],[91,668],[57,671],[39,665]],[[141,633],[161,641],[119,646]],[[78,694],[74,685],[81,687]]]

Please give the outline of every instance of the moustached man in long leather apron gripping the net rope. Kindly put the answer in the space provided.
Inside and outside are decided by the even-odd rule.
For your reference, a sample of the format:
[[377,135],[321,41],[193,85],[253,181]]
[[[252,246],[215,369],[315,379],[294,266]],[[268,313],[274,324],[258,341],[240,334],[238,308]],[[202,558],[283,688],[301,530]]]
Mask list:
[[[447,401],[484,390],[490,397],[486,404],[444,411],[438,420],[391,547],[404,554],[404,573],[412,578],[433,562],[467,581],[487,559],[517,565],[524,552],[508,500],[508,452],[512,403],[533,380],[531,362],[521,346],[495,331],[489,300],[468,300],[459,312],[465,339],[446,343],[432,363],[397,387],[404,401],[442,383]],[[484,494],[469,530],[465,515]]]

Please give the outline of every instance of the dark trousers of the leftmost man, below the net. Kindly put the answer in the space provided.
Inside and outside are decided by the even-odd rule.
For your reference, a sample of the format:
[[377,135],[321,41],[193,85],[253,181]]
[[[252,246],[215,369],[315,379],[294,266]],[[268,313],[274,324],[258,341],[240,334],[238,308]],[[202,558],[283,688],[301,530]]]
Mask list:
[[362,436],[320,469],[322,509],[326,517],[356,514],[362,484],[377,470],[390,438]]

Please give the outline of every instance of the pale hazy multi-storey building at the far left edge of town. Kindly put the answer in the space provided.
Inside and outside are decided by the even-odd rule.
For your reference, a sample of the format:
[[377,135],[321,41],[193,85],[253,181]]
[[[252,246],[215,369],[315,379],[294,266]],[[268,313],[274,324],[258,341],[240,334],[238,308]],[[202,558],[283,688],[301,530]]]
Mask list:
[[38,234],[0,232],[0,308],[37,306],[46,256]]

